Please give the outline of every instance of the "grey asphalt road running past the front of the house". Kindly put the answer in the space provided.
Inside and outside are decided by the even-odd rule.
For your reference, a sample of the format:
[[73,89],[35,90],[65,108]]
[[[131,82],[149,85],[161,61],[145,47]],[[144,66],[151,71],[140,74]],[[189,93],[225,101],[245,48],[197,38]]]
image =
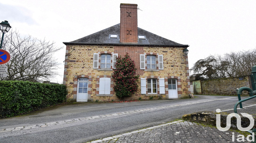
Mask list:
[[[87,142],[171,122],[184,114],[232,109],[237,101],[236,96],[197,96],[193,99],[57,106],[1,119],[0,142]],[[256,99],[244,102],[243,106],[254,104]]]

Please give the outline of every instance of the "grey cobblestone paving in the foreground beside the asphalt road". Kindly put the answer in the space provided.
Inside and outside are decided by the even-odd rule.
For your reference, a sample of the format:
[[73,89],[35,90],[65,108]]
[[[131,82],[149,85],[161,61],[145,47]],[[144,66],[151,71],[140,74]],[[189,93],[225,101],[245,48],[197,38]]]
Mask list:
[[[153,129],[152,129],[153,128]],[[144,131],[133,131],[104,138],[91,143],[228,143],[232,141],[232,131],[222,132],[215,127],[204,126],[188,121],[163,124]],[[234,132],[234,142],[240,133]],[[245,137],[245,142],[247,142]]]

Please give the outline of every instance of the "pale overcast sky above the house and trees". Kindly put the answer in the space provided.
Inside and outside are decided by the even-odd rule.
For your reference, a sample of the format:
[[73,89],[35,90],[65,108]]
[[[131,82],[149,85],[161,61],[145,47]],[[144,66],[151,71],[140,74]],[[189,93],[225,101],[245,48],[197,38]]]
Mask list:
[[138,4],[138,27],[189,45],[189,68],[209,55],[256,48],[255,0],[2,0],[0,20],[21,35],[64,47],[52,82],[62,83],[66,47],[120,23],[120,3]]

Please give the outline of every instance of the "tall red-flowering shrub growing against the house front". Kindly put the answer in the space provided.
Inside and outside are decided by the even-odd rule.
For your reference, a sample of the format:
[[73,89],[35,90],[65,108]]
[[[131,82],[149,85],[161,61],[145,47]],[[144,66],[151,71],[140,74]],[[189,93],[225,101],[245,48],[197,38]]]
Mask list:
[[138,84],[136,82],[139,79],[139,75],[136,75],[134,61],[131,60],[128,53],[126,53],[124,58],[121,56],[116,58],[116,69],[113,70],[112,77],[116,84],[114,86],[116,96],[120,99],[131,97],[138,90]]

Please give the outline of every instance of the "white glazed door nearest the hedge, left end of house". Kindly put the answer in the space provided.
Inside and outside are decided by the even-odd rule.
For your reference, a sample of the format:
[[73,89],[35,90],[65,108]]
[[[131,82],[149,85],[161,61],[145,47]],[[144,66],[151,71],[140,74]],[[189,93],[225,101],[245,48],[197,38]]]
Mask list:
[[79,78],[77,81],[76,102],[87,102],[88,98],[88,79]]

